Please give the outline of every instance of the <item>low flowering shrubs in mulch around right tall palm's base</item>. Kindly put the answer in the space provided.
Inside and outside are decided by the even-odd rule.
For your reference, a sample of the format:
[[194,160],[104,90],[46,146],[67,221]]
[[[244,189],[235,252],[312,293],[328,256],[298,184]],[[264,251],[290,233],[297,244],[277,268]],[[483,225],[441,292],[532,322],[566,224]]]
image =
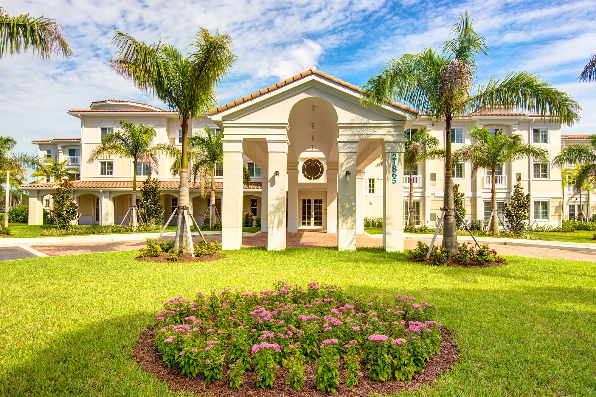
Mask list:
[[505,265],[505,259],[499,256],[495,250],[490,249],[488,244],[481,247],[471,246],[470,243],[461,243],[457,252],[449,253],[449,250],[441,246],[433,246],[430,257],[429,245],[418,241],[418,247],[408,250],[409,258],[412,262],[431,263],[433,265],[451,265],[451,266],[498,266]]

